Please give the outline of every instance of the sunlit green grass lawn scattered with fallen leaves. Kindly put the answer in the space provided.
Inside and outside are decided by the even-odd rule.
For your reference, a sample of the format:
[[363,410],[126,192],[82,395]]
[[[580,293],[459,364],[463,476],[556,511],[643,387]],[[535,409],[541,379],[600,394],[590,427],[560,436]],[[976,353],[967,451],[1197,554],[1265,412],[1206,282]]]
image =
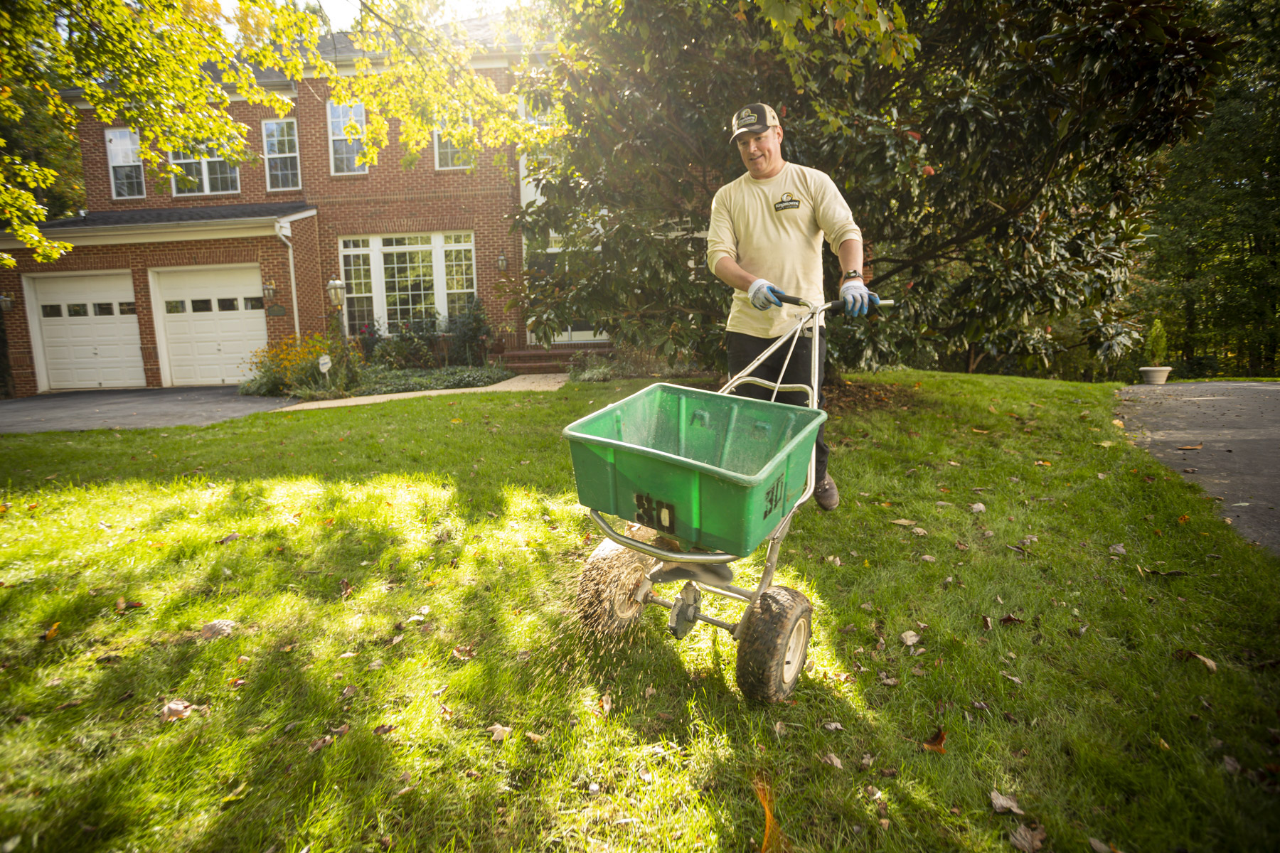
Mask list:
[[845,503],[778,569],[813,668],[772,707],[708,625],[577,628],[599,535],[559,430],[643,382],[0,436],[0,849],[741,852],[756,784],[796,850],[1276,849],[1280,560],[1111,386],[854,379]]

